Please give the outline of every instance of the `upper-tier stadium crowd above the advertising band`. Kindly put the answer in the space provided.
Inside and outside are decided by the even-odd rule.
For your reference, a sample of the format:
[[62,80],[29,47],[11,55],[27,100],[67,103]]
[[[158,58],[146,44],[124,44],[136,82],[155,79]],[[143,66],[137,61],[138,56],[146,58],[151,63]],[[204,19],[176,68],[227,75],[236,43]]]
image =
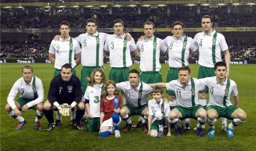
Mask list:
[[[24,13],[14,13],[13,16],[2,15],[2,28],[58,28],[58,22],[67,20],[72,28],[84,28],[84,22],[91,18],[93,14],[84,13],[81,15],[56,15],[51,16],[44,13],[26,15]],[[155,22],[156,28],[168,28],[177,20],[182,20],[184,27],[200,27],[200,18],[204,13],[156,13],[154,10],[147,13],[130,14],[98,14],[98,28],[111,28],[112,20],[117,18],[124,21],[126,28],[141,28],[143,22]],[[254,13],[224,13],[223,11],[214,11],[215,27],[254,27],[256,16]],[[35,17],[36,16],[36,17]],[[106,23],[107,22],[107,23]]]

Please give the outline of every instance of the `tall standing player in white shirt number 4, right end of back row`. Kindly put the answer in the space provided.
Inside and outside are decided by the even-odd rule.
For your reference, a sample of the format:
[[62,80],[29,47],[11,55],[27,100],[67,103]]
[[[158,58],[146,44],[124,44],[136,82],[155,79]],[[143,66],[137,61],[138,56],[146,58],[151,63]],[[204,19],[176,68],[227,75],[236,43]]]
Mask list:
[[[213,18],[209,15],[203,16],[201,19],[201,26],[203,32],[195,34],[194,44],[192,45],[192,51],[199,49],[199,71],[198,79],[213,77],[214,65],[221,60],[221,53],[225,55],[225,62],[227,64],[226,77],[230,73],[230,51],[223,34],[213,30]],[[199,103],[206,108],[206,97],[208,90],[202,91],[199,94]],[[226,130],[227,119],[222,118],[222,130]]]

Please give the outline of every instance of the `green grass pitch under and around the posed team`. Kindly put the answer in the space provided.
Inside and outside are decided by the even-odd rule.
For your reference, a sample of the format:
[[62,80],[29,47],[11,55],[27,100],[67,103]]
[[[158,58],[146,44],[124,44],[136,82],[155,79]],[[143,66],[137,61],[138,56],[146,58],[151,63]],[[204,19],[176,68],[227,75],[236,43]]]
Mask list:
[[[53,65],[46,63],[31,64],[34,75],[41,78],[45,90],[45,101],[51,79],[53,77]],[[205,137],[198,138],[194,130],[183,131],[180,137],[176,137],[175,129],[171,130],[171,137],[151,138],[141,129],[133,128],[130,132],[124,132],[124,121],[121,122],[121,137],[110,135],[100,138],[98,132],[88,133],[87,125],[83,130],[75,130],[69,124],[69,117],[63,117],[63,125],[57,126],[53,131],[46,132],[47,120],[41,120],[41,131],[34,130],[35,111],[29,110],[23,113],[27,120],[21,131],[15,131],[18,121],[9,117],[4,111],[7,96],[14,82],[21,77],[21,68],[24,64],[1,64],[1,150],[256,150],[256,65],[231,65],[230,78],[235,80],[238,87],[239,107],[247,113],[247,121],[241,126],[235,127],[234,137],[227,138],[221,131],[221,120],[215,125],[216,136],[207,136],[208,124],[204,129]],[[189,65],[192,77],[197,77],[198,65]],[[135,64],[132,68],[139,69]],[[81,65],[77,67],[80,77]],[[108,76],[110,66],[104,65]],[[167,64],[162,64],[164,82],[168,70]],[[167,95],[166,95],[167,96]],[[17,96],[18,97],[18,96]],[[149,98],[152,98],[151,96]],[[138,117],[132,117],[133,123],[137,123]],[[230,123],[230,120],[228,120]],[[194,128],[196,121],[191,119]],[[167,132],[165,132],[166,135]]]

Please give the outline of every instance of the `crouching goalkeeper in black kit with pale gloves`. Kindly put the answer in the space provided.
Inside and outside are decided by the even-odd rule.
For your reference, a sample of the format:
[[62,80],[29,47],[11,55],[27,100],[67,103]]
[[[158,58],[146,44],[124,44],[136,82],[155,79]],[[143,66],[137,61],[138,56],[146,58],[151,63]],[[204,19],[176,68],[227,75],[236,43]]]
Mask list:
[[69,112],[77,109],[74,126],[81,130],[80,120],[84,115],[84,103],[81,102],[81,84],[77,76],[72,75],[72,66],[68,63],[61,67],[61,74],[54,77],[48,91],[48,100],[43,106],[43,112],[49,124],[46,131],[51,131],[56,123],[53,118],[53,110],[63,116],[69,116]]

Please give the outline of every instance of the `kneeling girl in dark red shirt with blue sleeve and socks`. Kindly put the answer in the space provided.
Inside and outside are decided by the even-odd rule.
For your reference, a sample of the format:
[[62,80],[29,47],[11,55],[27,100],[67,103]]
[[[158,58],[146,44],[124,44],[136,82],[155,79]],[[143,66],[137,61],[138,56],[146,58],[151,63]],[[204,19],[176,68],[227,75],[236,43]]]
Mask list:
[[114,127],[115,137],[121,137],[119,131],[121,117],[118,113],[122,100],[121,96],[117,95],[115,82],[112,80],[106,82],[104,95],[105,97],[102,98],[100,103],[100,136],[107,137]]

